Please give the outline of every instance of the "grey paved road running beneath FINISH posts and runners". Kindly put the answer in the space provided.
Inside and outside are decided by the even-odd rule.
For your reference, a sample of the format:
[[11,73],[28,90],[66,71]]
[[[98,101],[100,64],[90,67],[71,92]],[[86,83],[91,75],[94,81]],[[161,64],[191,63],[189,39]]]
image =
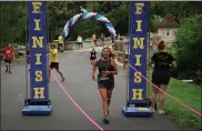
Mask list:
[[[72,99],[104,130],[180,130],[170,119],[154,114],[152,118],[125,118],[121,107],[125,104],[125,71],[120,68],[115,77],[115,90],[111,104],[111,123],[102,123],[101,98],[97,83],[91,80],[89,51],[60,54],[60,67],[67,81],[62,83]],[[98,130],[72,101],[59,83],[51,78],[50,99],[53,114],[50,117],[22,117],[26,99],[26,69],[23,63],[12,66],[12,74],[1,66],[1,129],[2,130]],[[58,78],[59,75],[55,74]],[[60,78],[59,78],[60,79]]]

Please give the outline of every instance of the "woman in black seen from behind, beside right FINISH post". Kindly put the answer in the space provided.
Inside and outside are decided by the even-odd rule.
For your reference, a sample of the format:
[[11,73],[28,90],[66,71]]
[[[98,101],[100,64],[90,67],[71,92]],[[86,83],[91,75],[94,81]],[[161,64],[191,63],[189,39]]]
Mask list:
[[[169,84],[171,71],[170,66],[172,68],[176,69],[176,63],[174,61],[174,58],[172,54],[168,53],[165,51],[165,44],[164,41],[160,41],[158,44],[158,52],[154,53],[151,58],[152,62],[154,63],[154,70],[152,73],[152,83],[155,84],[161,90],[165,91],[166,85]],[[152,85],[152,107],[151,110],[154,112],[154,107],[156,103],[158,93],[160,97],[160,110],[159,113],[163,114],[163,108],[164,108],[164,92],[159,90],[156,87]]]

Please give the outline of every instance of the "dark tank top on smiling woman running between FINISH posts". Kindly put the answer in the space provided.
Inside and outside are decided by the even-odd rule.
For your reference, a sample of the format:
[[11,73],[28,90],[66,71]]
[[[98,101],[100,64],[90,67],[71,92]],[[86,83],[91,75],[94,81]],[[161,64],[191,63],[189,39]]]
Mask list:
[[102,71],[114,71],[114,68],[111,66],[111,58],[108,61],[103,61],[100,59],[98,61],[98,84],[102,84],[105,87],[114,87],[114,78],[113,74],[109,74],[107,77],[102,75]]

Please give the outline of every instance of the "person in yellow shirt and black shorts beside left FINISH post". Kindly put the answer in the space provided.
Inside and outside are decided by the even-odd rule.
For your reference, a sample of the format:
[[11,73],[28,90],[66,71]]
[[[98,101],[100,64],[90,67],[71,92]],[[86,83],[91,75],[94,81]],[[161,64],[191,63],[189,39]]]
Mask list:
[[58,49],[57,49],[55,44],[51,44],[50,53],[51,53],[51,63],[50,63],[50,70],[49,70],[49,80],[51,77],[51,70],[55,69],[57,72],[62,78],[61,82],[64,82],[65,79],[64,79],[62,72],[59,70]]

